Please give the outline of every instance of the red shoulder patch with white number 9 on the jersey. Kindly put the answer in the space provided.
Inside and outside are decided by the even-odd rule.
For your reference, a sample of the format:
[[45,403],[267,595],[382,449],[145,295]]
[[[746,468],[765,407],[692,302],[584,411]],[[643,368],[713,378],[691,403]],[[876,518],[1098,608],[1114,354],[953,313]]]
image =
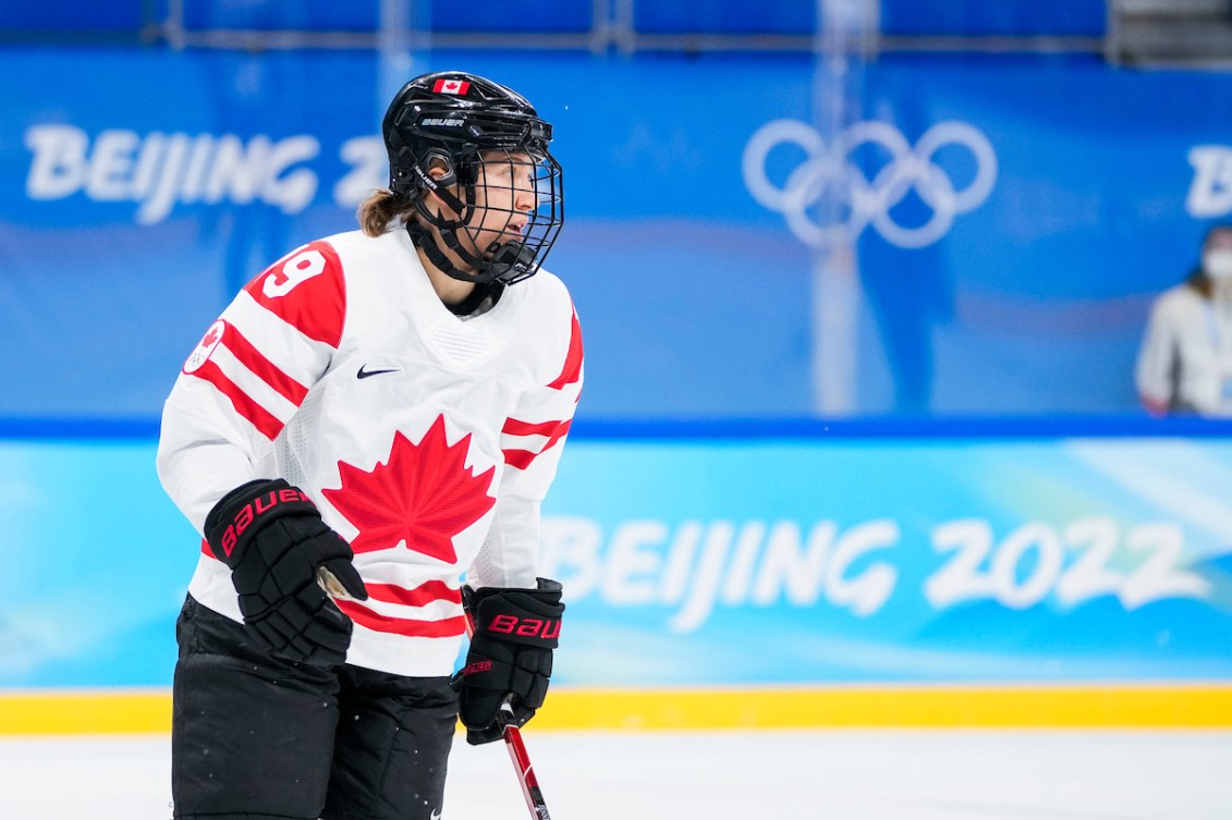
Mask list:
[[304,336],[330,347],[341,342],[346,282],[329,243],[318,240],[280,259],[244,289]]

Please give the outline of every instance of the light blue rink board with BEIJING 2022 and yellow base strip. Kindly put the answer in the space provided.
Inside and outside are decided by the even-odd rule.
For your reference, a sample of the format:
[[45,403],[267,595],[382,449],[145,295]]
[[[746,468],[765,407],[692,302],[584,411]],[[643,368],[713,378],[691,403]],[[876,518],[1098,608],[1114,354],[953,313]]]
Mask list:
[[[153,457],[0,443],[0,733],[165,728]],[[1228,725],[1227,486],[1214,437],[574,441],[542,725]]]

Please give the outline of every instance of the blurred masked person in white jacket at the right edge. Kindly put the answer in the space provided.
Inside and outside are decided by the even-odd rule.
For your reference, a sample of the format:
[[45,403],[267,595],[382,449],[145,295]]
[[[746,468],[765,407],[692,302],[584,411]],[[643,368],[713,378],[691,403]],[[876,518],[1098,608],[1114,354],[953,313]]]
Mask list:
[[1152,304],[1135,382],[1153,415],[1232,417],[1232,225],[1215,225],[1201,261]]

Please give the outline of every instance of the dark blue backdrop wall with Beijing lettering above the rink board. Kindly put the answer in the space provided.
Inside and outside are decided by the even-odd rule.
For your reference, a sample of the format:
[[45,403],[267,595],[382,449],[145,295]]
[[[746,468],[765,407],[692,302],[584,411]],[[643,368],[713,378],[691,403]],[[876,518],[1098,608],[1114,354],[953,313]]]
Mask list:
[[[766,123],[813,122],[811,58],[432,53],[415,70],[457,65],[524,90],[557,126],[569,217],[548,266],[586,330],[583,416],[814,411],[819,254],[742,172]],[[350,229],[383,182],[378,75],[366,52],[0,53],[0,321],[22,351],[0,362],[18,385],[0,415],[156,416],[228,294]],[[860,82],[851,122],[886,123],[908,147],[966,123],[995,166],[987,197],[933,244],[859,233],[853,411],[1137,412],[1149,300],[1232,212],[1232,76],[890,54]],[[185,159],[164,172],[175,140]],[[254,163],[254,190],[209,159],[227,140]],[[771,183],[802,159],[775,148]],[[871,180],[891,155],[845,159]],[[956,143],[925,159],[957,188],[978,170]],[[886,211],[906,228],[934,217],[915,190]]]

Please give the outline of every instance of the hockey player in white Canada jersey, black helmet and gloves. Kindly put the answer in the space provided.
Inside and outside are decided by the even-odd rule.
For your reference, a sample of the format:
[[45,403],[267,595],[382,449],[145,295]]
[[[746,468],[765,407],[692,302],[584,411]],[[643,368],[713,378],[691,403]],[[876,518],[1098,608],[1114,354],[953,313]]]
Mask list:
[[496,740],[503,702],[525,723],[547,691],[564,607],[538,508],[583,369],[541,270],[563,222],[552,128],[448,71],[382,129],[389,190],[362,230],[254,278],[166,400],[159,476],[203,536],[176,625],[176,818],[439,818],[460,713]]

